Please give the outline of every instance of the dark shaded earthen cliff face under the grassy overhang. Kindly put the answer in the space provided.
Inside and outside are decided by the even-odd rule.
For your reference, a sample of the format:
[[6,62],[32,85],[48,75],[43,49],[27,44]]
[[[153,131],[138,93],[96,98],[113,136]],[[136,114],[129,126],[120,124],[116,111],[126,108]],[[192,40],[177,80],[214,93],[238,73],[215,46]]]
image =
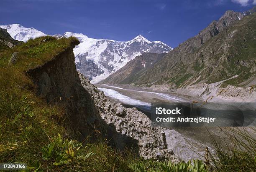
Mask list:
[[[74,43],[77,45],[77,42]],[[106,131],[90,94],[84,90],[74,65],[73,47],[69,47],[44,65],[27,71],[37,85],[37,93],[49,104],[66,109],[67,123],[80,138]]]

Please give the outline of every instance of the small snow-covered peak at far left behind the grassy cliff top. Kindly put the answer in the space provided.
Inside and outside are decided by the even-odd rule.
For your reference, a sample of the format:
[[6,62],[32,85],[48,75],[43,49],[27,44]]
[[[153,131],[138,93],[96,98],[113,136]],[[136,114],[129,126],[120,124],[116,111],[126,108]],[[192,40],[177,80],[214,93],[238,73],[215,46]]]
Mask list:
[[24,42],[28,41],[29,39],[34,39],[36,37],[41,37],[46,35],[43,32],[36,30],[33,27],[27,28],[27,27],[23,27],[20,24],[0,25],[0,27],[3,29],[6,29],[13,39],[24,41]]

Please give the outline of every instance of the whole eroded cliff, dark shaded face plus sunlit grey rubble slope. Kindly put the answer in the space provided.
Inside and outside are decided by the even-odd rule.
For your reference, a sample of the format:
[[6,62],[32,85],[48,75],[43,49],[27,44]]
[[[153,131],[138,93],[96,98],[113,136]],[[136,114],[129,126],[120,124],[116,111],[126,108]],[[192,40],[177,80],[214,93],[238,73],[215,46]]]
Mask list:
[[110,102],[77,73],[73,47],[26,72],[36,85],[37,95],[49,105],[65,108],[65,124],[79,133],[80,140],[90,136],[95,141],[103,136],[118,150],[128,147],[146,159],[177,160],[172,150],[167,149],[162,128],[153,127],[148,117],[136,108]]

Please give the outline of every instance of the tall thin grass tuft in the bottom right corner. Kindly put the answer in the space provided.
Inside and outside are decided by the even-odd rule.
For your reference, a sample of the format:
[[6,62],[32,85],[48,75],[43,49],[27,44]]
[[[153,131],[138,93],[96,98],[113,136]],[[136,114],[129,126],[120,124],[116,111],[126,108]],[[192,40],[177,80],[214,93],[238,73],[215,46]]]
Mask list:
[[[251,127],[255,135],[255,127]],[[221,130],[230,140],[220,145],[212,137],[215,155],[210,154],[212,170],[216,172],[255,172],[256,139],[243,128]]]

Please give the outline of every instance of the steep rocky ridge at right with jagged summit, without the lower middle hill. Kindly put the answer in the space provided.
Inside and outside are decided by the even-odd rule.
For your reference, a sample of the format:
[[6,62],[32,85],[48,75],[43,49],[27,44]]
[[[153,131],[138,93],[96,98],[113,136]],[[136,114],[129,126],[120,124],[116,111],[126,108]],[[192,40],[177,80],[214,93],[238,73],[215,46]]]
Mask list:
[[[147,87],[151,87],[152,85],[169,85],[170,88],[174,88],[198,82],[217,82],[237,74],[236,72],[241,71],[243,67],[235,67],[236,70],[228,67],[228,70],[231,71],[227,71],[224,70],[225,67],[223,65],[225,63],[220,64],[219,67],[215,66],[218,65],[217,59],[221,56],[226,56],[222,57],[223,60],[232,61],[232,58],[238,58],[238,50],[246,50],[243,48],[247,47],[252,48],[251,52],[253,52],[253,47],[251,46],[254,46],[253,42],[255,41],[255,37],[253,38],[253,32],[255,32],[255,30],[253,31],[253,25],[255,24],[250,21],[255,20],[255,13],[247,13],[234,12],[232,10],[226,11],[219,20],[212,21],[210,25],[205,27],[195,37],[189,38],[181,43],[156,62],[155,65],[143,72],[140,77],[136,78],[134,83]],[[243,20],[244,17],[246,17],[246,20]],[[236,25],[237,23],[238,25]],[[232,30],[234,27],[237,28]],[[226,35],[227,33],[229,35]],[[236,40],[233,40],[234,38]],[[238,42],[234,43],[235,41]],[[253,42],[250,43],[250,41]],[[229,42],[232,42],[232,45]],[[238,52],[231,50],[230,46],[232,46],[232,49],[236,47]],[[241,57],[241,59],[243,58]],[[253,65],[253,63],[248,61],[246,61],[246,64]],[[223,71],[225,72],[223,73]],[[108,83],[107,80],[103,82]],[[130,82],[129,84],[132,83]]]

